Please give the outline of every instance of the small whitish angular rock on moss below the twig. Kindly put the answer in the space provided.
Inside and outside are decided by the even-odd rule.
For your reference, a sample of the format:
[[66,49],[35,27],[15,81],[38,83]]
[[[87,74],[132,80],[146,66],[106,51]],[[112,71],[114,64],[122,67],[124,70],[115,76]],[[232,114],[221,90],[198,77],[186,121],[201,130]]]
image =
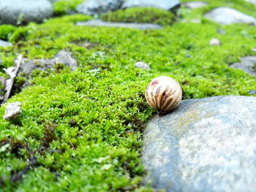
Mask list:
[[21,106],[21,103],[18,101],[8,104],[5,109],[4,119],[14,120],[15,118],[18,118],[18,116],[20,116],[21,114],[20,106]]

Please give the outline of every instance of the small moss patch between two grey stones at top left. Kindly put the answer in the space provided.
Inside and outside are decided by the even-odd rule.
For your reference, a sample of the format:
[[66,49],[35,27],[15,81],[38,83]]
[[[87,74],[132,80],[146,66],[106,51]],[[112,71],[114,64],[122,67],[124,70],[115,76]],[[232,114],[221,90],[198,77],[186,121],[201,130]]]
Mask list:
[[53,4],[54,15],[64,15],[68,11],[75,11],[78,4],[85,0],[59,0]]

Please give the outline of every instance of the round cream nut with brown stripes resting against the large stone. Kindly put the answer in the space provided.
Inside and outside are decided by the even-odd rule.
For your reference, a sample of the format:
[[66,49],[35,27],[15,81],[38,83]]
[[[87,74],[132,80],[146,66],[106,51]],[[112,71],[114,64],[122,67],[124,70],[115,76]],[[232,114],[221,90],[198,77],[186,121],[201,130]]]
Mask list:
[[171,77],[157,77],[148,84],[145,96],[150,107],[167,113],[181,102],[181,86]]

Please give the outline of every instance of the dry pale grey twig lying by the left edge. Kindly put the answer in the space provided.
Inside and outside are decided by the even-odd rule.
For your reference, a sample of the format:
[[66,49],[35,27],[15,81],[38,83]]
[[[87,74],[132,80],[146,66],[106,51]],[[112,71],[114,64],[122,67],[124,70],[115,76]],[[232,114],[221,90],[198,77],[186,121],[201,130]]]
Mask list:
[[13,83],[14,83],[14,79],[15,79],[16,75],[18,74],[18,70],[20,69],[21,61],[22,61],[22,55],[18,55],[18,58],[15,60],[15,67],[8,68],[9,70],[8,69],[5,70],[5,72],[7,72],[7,74],[10,75],[10,79],[8,79],[7,82],[6,82],[5,91],[7,91],[7,92],[4,94],[3,104],[10,97],[10,93],[12,91],[12,86],[13,86]]

